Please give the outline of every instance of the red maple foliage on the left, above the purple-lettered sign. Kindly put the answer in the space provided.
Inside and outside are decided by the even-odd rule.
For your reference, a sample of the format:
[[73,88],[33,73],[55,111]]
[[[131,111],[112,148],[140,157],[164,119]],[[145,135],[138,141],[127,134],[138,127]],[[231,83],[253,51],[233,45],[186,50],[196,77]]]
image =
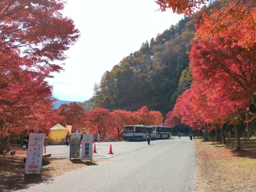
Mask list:
[[62,69],[54,61],[63,62],[79,37],[73,21],[60,13],[63,7],[56,0],[0,2],[0,153],[7,136],[25,126],[39,130],[35,122],[52,108],[52,87],[44,79]]

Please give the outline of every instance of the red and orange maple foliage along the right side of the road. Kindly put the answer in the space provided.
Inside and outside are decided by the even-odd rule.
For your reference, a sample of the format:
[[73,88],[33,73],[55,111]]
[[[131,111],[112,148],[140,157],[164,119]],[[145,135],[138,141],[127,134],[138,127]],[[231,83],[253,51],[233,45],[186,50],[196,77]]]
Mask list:
[[249,105],[256,106],[256,12],[253,2],[229,3],[221,10],[205,12],[197,21],[188,52],[191,89],[177,99],[166,124],[203,129],[200,122],[219,127],[228,123],[235,128],[239,150],[237,126],[244,121]]

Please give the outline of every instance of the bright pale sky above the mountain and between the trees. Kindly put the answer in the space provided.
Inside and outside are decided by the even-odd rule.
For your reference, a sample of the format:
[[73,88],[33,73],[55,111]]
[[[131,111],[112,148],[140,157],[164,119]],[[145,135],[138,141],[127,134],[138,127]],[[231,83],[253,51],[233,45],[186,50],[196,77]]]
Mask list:
[[67,51],[65,71],[47,79],[53,96],[65,101],[85,101],[94,83],[143,42],[175,25],[183,15],[156,11],[154,0],[67,0],[63,14],[74,20],[81,37]]

